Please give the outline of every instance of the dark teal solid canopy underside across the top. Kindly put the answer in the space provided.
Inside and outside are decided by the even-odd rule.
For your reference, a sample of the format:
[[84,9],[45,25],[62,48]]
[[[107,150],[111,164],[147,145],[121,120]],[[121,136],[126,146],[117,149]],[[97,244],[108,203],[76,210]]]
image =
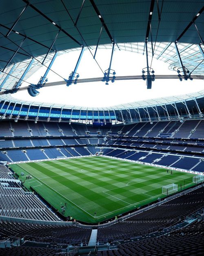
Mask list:
[[[153,2],[151,16],[153,41],[176,41],[203,8],[203,0],[158,0],[161,12],[159,24],[156,0],[85,0],[77,26],[74,26],[82,2],[83,0],[30,0],[29,2],[1,0],[0,68],[4,68],[25,36],[23,50],[18,51],[11,63],[47,53],[59,29],[61,29],[60,34],[51,51],[76,48],[80,45],[96,45],[102,22],[93,4],[110,33],[108,35],[107,30],[103,28],[100,44],[111,43],[110,35],[116,43],[145,41]],[[27,3],[30,5],[27,6],[9,36],[5,37]],[[203,13],[196,18],[195,23],[203,39]],[[149,33],[148,41],[150,40]],[[201,43],[194,24],[181,36],[179,42]]]

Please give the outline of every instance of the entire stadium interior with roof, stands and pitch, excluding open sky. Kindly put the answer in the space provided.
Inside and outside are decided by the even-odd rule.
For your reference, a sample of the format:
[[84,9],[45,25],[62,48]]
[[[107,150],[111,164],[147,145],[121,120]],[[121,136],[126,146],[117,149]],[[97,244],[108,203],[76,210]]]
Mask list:
[[[141,74],[112,69],[116,48],[144,55]],[[80,78],[90,49],[98,66],[111,50],[109,68]],[[68,78],[48,83],[72,51]],[[0,255],[203,256],[204,90],[97,108],[15,97],[117,80],[193,87],[203,61],[203,1],[0,1]]]

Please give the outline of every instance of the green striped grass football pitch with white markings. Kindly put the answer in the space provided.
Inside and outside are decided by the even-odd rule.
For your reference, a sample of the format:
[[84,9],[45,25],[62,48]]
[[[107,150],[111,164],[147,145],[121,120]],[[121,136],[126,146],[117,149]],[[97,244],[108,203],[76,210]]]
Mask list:
[[[11,168],[65,216],[95,223],[163,198],[162,186],[193,186],[193,174],[105,157],[13,164]],[[26,175],[33,178],[26,180]],[[62,204],[61,204],[62,203]],[[94,216],[96,213],[96,217]]]

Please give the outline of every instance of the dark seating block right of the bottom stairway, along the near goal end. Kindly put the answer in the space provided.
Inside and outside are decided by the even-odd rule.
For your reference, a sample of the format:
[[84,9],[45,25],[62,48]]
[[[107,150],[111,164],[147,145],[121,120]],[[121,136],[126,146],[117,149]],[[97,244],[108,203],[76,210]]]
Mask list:
[[185,216],[191,215],[203,207],[204,187],[128,217],[125,220],[98,227],[97,239],[100,242],[113,242],[153,233],[180,222]]

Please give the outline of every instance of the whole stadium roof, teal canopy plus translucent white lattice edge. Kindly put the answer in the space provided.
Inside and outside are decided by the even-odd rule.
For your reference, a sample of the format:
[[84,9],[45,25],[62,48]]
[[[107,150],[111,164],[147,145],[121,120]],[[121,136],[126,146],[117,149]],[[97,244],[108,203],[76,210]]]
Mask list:
[[[143,52],[144,41],[148,39],[149,55],[153,48],[151,42],[156,42],[154,57],[169,63],[173,70],[180,66],[174,45],[177,41],[186,68],[195,69],[195,75],[204,75],[203,1],[2,0],[0,10],[0,88],[4,90],[13,88],[33,57],[34,62],[24,80],[38,70],[42,62],[47,65],[55,52],[63,54],[82,46],[87,49],[87,46],[97,45],[101,29],[100,48],[111,48],[111,43],[115,42],[120,50]],[[12,75],[4,83],[11,70]],[[10,95],[2,100],[6,98],[20,102]],[[177,99],[169,99],[173,100]],[[167,99],[159,101],[162,101],[160,104],[168,102]],[[141,104],[156,102],[134,102],[111,108]]]

